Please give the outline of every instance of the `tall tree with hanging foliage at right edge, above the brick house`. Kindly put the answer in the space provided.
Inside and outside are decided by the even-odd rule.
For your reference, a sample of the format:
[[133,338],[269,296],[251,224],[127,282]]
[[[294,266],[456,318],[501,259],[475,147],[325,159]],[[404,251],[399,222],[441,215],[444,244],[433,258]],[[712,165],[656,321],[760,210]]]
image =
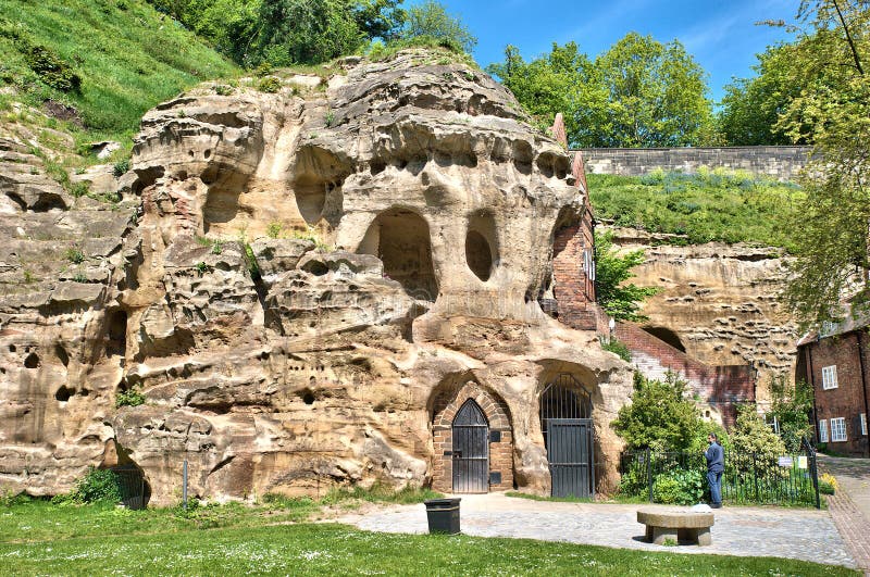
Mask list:
[[803,327],[841,319],[846,300],[853,314],[870,304],[869,21],[866,1],[804,1],[790,27],[798,39],[783,46],[801,91],[776,127],[813,147],[786,223],[796,254],[784,298]]

